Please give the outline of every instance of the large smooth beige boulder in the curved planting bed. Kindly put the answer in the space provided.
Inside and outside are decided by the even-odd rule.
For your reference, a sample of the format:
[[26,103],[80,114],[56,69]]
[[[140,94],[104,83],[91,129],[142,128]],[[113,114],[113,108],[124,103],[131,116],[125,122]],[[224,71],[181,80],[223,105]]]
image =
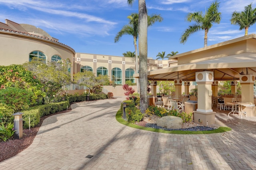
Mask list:
[[164,116],[156,121],[156,125],[160,127],[179,129],[182,128],[183,120],[176,116]]

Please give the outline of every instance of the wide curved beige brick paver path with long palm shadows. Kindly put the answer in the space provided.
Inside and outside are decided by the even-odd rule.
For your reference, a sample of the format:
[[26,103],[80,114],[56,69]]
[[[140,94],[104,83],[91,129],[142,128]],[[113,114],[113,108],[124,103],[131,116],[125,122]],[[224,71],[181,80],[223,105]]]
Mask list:
[[256,118],[218,113],[216,122],[232,131],[162,134],[118,123],[115,115],[124,99],[76,103],[72,111],[48,117],[34,142],[0,162],[0,169],[256,169]]

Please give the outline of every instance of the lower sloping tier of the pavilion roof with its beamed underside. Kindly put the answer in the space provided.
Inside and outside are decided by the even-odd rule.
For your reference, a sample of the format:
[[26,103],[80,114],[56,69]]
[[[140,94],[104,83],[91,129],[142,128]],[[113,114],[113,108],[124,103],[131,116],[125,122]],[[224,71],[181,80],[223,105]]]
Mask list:
[[[173,81],[174,79],[182,79],[195,81],[195,74],[198,71],[213,71],[214,80],[218,81],[239,80],[241,72],[256,75],[256,53],[240,53],[153,70],[148,72],[148,80]],[[138,77],[138,74],[134,77]]]

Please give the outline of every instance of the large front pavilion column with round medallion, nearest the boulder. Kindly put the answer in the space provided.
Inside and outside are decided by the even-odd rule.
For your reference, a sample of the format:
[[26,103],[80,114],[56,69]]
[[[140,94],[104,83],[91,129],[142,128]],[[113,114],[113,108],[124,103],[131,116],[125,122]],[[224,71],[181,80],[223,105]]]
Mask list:
[[194,122],[201,125],[215,123],[215,113],[212,111],[213,71],[196,72],[198,85],[198,109],[194,111]]

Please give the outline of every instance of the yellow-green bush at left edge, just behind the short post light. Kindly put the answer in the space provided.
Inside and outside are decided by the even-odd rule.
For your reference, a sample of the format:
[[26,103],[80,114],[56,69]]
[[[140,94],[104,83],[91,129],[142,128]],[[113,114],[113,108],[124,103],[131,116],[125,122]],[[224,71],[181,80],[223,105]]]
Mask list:
[[13,113],[14,113],[14,109],[12,109],[12,107],[4,103],[0,103],[0,123],[3,123],[4,125],[6,125],[6,123],[12,122]]

